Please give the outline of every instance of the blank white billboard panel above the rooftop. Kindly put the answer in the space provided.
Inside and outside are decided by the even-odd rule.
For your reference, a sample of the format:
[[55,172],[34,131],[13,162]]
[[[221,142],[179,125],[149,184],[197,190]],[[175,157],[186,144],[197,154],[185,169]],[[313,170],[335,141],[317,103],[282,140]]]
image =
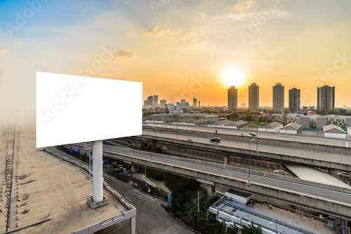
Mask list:
[[37,148],[142,135],[143,84],[37,72]]

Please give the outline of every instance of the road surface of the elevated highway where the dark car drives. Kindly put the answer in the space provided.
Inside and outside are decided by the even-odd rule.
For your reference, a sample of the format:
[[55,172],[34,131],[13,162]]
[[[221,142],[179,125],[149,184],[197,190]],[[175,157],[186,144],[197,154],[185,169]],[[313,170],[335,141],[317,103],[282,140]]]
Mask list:
[[[166,133],[166,132],[152,132],[149,130],[143,130],[143,135],[150,135],[154,137],[164,137],[169,139],[180,139],[187,141],[188,139],[192,139],[192,142],[197,142],[201,144],[211,144],[211,145],[218,145],[218,146],[227,146],[231,148],[237,149],[249,149],[248,142],[234,142],[230,140],[221,140],[220,142],[210,142],[208,137],[193,137],[193,136],[186,136],[186,135],[179,135],[176,136],[173,133]],[[251,151],[256,151],[256,144],[254,142],[251,143]],[[351,156],[339,153],[329,153],[329,152],[322,152],[322,151],[309,151],[305,149],[293,149],[293,148],[286,148],[282,146],[269,146],[258,144],[258,151],[265,152],[265,153],[275,153],[275,154],[282,154],[286,156],[294,156],[298,158],[309,158],[313,160],[323,160],[326,162],[332,163],[343,163],[346,165],[351,165]]]

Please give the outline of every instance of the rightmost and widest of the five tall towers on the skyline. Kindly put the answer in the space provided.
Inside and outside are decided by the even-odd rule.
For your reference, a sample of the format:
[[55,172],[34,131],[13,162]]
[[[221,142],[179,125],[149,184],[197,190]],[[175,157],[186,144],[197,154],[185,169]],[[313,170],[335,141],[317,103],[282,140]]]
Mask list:
[[335,109],[335,86],[317,87],[317,110],[333,111]]

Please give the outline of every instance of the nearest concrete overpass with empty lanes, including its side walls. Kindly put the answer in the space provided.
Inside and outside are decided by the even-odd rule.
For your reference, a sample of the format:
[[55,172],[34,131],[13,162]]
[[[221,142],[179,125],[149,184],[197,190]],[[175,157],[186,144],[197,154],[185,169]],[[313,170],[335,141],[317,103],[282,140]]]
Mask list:
[[303,181],[294,177],[256,170],[251,170],[251,184],[248,184],[247,168],[121,149],[114,146],[106,146],[103,156],[193,179],[201,179],[207,181],[208,184],[223,184],[248,193],[265,195],[297,207],[305,207],[351,220],[351,188]]

